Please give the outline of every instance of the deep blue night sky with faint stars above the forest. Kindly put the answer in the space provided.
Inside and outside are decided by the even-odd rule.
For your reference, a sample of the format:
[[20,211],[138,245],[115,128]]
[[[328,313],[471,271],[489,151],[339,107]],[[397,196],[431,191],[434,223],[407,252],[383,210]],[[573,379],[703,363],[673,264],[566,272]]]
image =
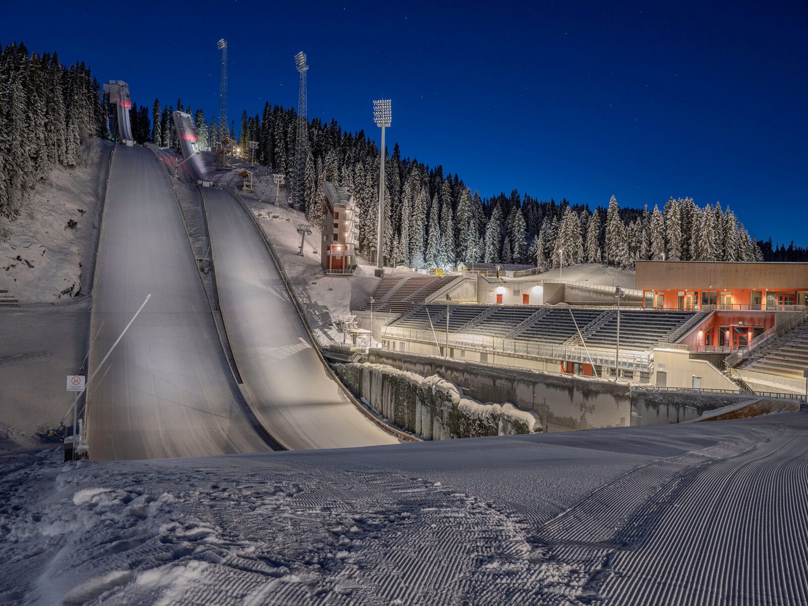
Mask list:
[[309,117],[377,137],[371,100],[389,97],[402,154],[483,196],[720,200],[752,234],[806,245],[808,4],[718,4],[17,2],[0,42],[209,117],[225,37],[237,124],[297,103],[303,50]]

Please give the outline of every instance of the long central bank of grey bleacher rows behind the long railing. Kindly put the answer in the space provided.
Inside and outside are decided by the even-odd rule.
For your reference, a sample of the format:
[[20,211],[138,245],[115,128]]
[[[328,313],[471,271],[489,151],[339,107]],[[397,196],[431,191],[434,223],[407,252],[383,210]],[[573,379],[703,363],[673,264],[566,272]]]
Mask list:
[[[448,308],[449,330],[456,334],[502,337],[535,343],[568,343],[580,347],[580,330],[587,347],[614,347],[617,342],[615,309],[469,304],[449,305]],[[420,305],[390,326],[430,330],[431,318],[436,330],[446,330],[446,309],[447,305],[444,303]],[[620,315],[621,348],[648,351],[684,326],[693,313],[629,309],[621,310]],[[805,350],[808,356],[808,345]]]

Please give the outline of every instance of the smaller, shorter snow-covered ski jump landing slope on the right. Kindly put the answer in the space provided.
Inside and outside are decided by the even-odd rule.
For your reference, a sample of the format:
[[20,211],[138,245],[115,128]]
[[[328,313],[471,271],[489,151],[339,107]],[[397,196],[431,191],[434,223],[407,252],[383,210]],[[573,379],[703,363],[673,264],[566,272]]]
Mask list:
[[219,305],[255,413],[286,448],[394,444],[327,372],[246,210],[204,188]]

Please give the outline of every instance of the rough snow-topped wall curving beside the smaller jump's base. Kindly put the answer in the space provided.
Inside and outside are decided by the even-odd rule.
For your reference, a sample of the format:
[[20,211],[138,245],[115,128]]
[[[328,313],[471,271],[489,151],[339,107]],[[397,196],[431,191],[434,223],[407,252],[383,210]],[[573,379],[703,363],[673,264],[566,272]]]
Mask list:
[[541,431],[535,412],[478,402],[450,381],[386,364],[336,364],[343,383],[378,414],[424,440],[510,436]]

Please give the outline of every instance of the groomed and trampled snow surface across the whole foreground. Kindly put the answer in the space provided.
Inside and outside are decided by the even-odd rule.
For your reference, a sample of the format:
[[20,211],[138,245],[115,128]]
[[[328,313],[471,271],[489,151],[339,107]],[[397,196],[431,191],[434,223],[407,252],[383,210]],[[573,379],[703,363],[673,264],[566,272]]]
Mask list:
[[808,415],[0,465],[0,603],[806,604]]

